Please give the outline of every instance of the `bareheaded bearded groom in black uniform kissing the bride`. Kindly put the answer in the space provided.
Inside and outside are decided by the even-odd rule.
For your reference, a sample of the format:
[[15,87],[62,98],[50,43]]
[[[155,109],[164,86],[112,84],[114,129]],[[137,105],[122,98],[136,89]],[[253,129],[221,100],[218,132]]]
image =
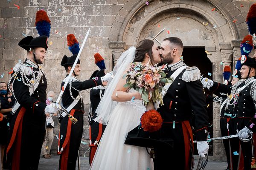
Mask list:
[[[204,157],[209,148],[207,139],[208,114],[206,99],[197,67],[187,67],[180,59],[183,43],[177,37],[163,40],[160,49],[162,63],[167,63],[167,77],[176,78],[163,97],[164,105],[157,111],[163,118],[160,129],[161,139],[172,139],[174,148],[155,148],[154,169],[190,170],[193,162],[193,135],[190,123],[195,116],[195,135],[200,156]],[[179,69],[180,68],[180,69]],[[177,70],[177,71],[176,71]],[[176,71],[176,72],[175,72]]]

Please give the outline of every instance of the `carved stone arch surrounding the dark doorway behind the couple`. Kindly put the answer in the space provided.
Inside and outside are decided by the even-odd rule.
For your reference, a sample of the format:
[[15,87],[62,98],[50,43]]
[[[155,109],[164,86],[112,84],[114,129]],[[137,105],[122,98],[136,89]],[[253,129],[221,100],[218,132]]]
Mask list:
[[[239,39],[248,34],[236,4],[232,0],[151,0],[149,3],[146,6],[143,0],[128,1],[120,10],[109,37],[113,61],[139,40],[166,28],[158,40],[175,36],[183,40],[185,47],[204,47],[212,63],[212,79],[221,82],[224,66],[233,66],[240,57]],[[238,22],[233,23],[234,19]],[[217,109],[213,115],[213,136],[220,136]],[[214,150],[213,159],[223,160],[221,141],[214,145],[221,149]]]

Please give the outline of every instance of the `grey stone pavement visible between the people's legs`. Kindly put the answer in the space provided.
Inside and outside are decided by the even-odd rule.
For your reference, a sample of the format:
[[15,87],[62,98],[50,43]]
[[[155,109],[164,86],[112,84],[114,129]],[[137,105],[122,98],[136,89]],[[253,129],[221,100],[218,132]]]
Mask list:
[[[89,170],[89,158],[80,157],[81,160],[81,170]],[[59,156],[52,156],[51,159],[40,159],[38,170],[58,170]],[[195,167],[197,166],[197,161],[195,158]],[[226,169],[226,163],[220,161],[208,161],[207,166],[204,170],[224,170]],[[76,170],[78,167],[76,166]]]

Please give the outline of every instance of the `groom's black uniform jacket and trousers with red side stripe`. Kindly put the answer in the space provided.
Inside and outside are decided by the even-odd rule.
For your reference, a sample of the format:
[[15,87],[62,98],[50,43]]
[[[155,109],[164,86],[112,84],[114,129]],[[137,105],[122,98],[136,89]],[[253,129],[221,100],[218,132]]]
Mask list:
[[[172,70],[172,68],[170,68]],[[166,70],[170,77],[175,71]],[[158,108],[163,118],[160,129],[161,139],[172,139],[173,148],[156,147],[154,169],[189,170],[193,160],[193,137],[190,126],[192,113],[195,116],[197,140],[206,141],[208,114],[206,98],[200,80],[185,82],[180,72],[163,98],[164,105]],[[174,122],[175,121],[175,122]]]

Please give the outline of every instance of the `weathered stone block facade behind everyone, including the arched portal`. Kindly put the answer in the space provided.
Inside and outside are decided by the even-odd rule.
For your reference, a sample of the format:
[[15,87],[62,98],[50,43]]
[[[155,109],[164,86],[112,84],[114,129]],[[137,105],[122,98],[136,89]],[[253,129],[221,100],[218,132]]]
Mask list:
[[[39,9],[44,9],[52,22],[49,38],[52,45],[49,45],[46,61],[41,65],[48,79],[48,91],[55,91],[58,94],[61,81],[65,77],[60,62],[64,54],[71,56],[67,48],[67,34],[75,34],[81,44],[89,28],[90,35],[80,57],[82,66],[80,79],[88,79],[97,69],[93,60],[93,54],[96,52],[105,58],[106,67],[111,71],[123,50],[136,45],[143,38],[150,37],[151,34],[157,34],[165,27],[170,34],[166,32],[161,34],[158,37],[160,41],[172,35],[180,37],[185,46],[204,46],[211,53],[207,57],[212,62],[213,79],[221,82],[224,65],[233,66],[239,58],[239,42],[248,34],[246,15],[249,7],[256,3],[256,0],[149,0],[148,2],[149,5],[145,4],[145,0],[1,0],[0,75],[3,77],[0,77],[0,81],[7,82],[10,78],[8,72],[19,60],[25,59],[26,51],[18,47],[17,43],[27,35],[38,36],[34,26],[35,13]],[[20,8],[17,9],[14,4],[19,5]],[[180,18],[179,21],[177,17]],[[197,35],[199,38],[189,37],[195,33],[189,30],[190,27],[195,32],[199,31]],[[221,61],[224,65],[220,65]],[[81,155],[86,152],[89,143],[88,92],[89,90],[83,93],[86,113],[82,140],[87,144],[81,144]],[[216,137],[220,136],[220,130],[218,111],[215,110],[214,113],[213,136]],[[58,128],[55,128],[55,134],[57,132]],[[214,147],[213,159],[222,159],[221,141],[215,142]],[[56,137],[52,149],[56,152]]]

